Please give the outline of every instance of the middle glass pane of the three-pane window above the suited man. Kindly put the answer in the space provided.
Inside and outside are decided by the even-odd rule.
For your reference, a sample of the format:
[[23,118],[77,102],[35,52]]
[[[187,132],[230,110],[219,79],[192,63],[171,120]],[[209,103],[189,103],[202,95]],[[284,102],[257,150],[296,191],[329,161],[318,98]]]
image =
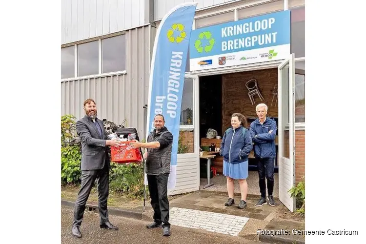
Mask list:
[[78,76],[99,74],[99,41],[78,45]]

